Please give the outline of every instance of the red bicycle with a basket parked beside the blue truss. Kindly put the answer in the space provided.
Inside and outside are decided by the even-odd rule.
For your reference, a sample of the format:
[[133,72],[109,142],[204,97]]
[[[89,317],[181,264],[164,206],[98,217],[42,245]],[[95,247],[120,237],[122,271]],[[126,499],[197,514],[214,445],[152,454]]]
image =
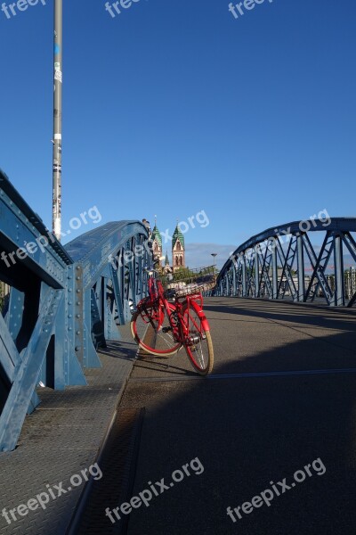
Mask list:
[[149,295],[139,302],[131,320],[134,340],[158,357],[174,355],[184,347],[198,374],[209,374],[214,349],[201,295],[206,284],[178,283],[165,291],[154,271],[149,272]]

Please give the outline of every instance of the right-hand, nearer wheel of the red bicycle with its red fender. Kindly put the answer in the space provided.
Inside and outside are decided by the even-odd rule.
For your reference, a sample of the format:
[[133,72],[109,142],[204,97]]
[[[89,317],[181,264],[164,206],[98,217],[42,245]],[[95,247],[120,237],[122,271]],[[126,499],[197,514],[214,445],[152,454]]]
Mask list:
[[183,309],[182,316],[188,331],[184,348],[190,362],[198,374],[210,374],[214,366],[214,348],[210,331],[206,330],[206,317],[194,301]]

